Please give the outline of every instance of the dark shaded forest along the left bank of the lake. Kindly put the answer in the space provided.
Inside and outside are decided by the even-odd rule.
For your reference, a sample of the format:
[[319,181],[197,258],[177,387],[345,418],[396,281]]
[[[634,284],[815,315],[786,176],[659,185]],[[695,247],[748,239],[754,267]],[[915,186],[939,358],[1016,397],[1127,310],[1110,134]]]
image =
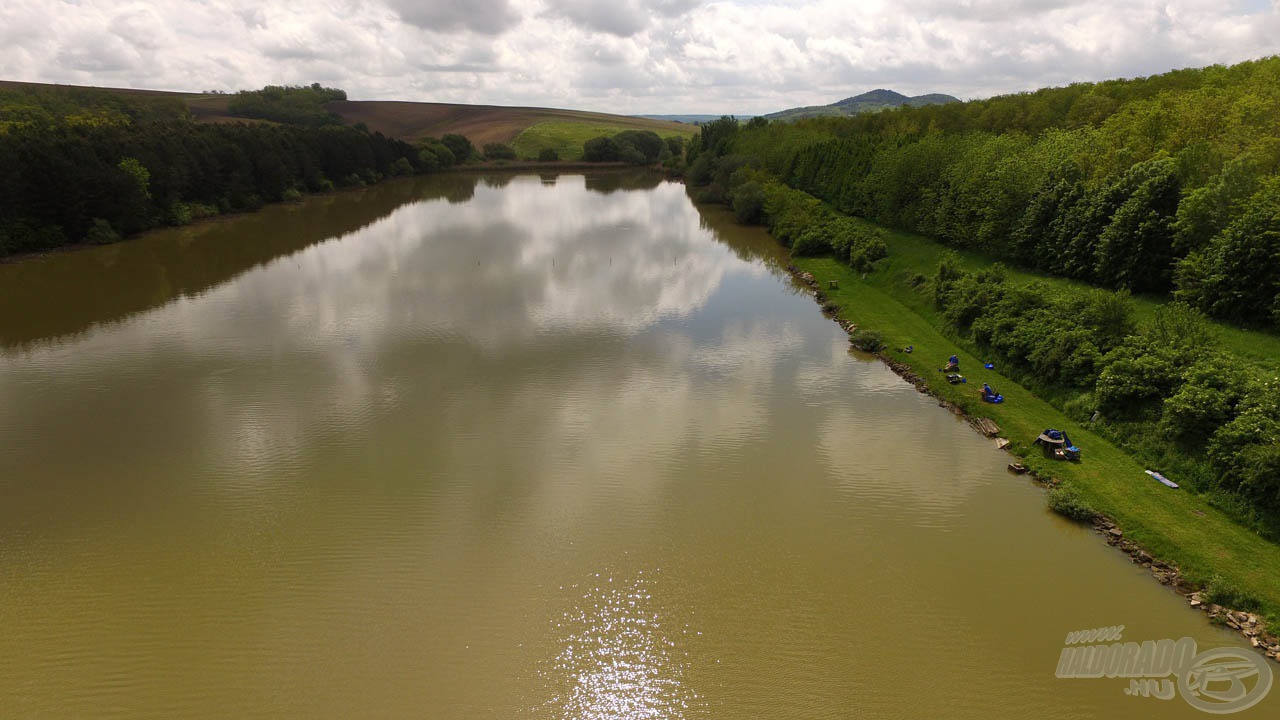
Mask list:
[[0,256],[113,242],[454,161],[440,141],[415,147],[344,126],[200,124],[165,96],[4,91]]

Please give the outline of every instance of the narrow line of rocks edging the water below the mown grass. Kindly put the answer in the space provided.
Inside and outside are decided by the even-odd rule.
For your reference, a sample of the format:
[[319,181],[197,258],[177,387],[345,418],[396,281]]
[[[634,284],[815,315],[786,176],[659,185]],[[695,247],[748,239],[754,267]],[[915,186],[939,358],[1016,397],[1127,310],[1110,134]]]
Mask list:
[[[808,286],[813,291],[814,300],[817,300],[818,305],[822,306],[823,313],[831,316],[840,325],[841,329],[844,329],[849,334],[852,334],[858,329],[858,325],[855,325],[849,320],[844,320],[837,315],[840,307],[835,302],[832,302],[826,293],[822,292],[818,279],[813,277],[812,273],[806,273],[791,264],[786,265],[786,270],[791,273],[791,275],[795,279]],[[874,355],[879,357],[879,360],[883,361],[886,365],[888,365],[888,368],[893,370],[893,373],[896,373],[899,377],[915,386],[916,391],[929,395],[932,397],[937,397],[940,400],[938,402],[940,406],[946,407],[955,415],[963,416],[965,420],[968,420],[975,432],[989,438],[996,438],[997,447],[1000,447],[1001,450],[1009,447],[1009,441],[1000,437],[1000,428],[988,418],[977,418],[974,415],[970,415],[963,407],[945,398],[938,397],[938,395],[933,392],[933,388],[929,387],[929,383],[905,363],[899,363],[897,360],[893,360],[892,357],[887,356],[883,351],[874,352]],[[1012,468],[1014,465],[1018,464],[1014,462],[1010,465],[1010,468]],[[1020,465],[1018,466],[1021,468]],[[1025,471],[1025,469],[1023,469],[1023,471]],[[1051,488],[1057,484],[1056,478],[1044,479],[1036,475],[1034,473],[1029,474],[1037,482],[1037,484],[1044,488]],[[1229,607],[1222,607],[1221,605],[1215,605],[1212,602],[1206,602],[1203,587],[1197,585],[1196,583],[1192,583],[1187,578],[1184,578],[1181,570],[1179,570],[1176,566],[1152,557],[1152,555],[1148,553],[1146,550],[1143,550],[1140,546],[1138,546],[1138,543],[1125,538],[1124,530],[1121,530],[1120,527],[1117,527],[1111,519],[1102,515],[1097,515],[1093,519],[1092,524],[1093,529],[1106,539],[1107,544],[1125,552],[1133,562],[1142,565],[1143,568],[1149,570],[1152,577],[1155,577],[1156,580],[1160,582],[1160,584],[1166,585],[1178,594],[1183,596],[1192,607],[1196,607],[1199,611],[1207,614],[1212,623],[1221,624],[1226,628],[1230,628],[1240,633],[1240,635],[1243,635],[1249,642],[1249,644],[1257,648],[1258,652],[1266,655],[1266,657],[1271,659],[1275,662],[1280,662],[1280,635],[1276,635],[1274,632],[1266,632],[1265,624],[1257,615],[1251,612],[1231,610]]]

